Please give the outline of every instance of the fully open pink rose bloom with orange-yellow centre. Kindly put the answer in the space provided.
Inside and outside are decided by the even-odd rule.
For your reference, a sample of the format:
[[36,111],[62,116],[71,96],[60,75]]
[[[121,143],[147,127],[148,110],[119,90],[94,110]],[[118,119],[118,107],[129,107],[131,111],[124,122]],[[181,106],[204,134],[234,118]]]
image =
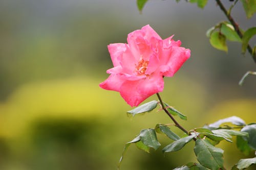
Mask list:
[[163,90],[163,77],[172,77],[190,57],[190,50],[180,47],[173,36],[162,38],[149,26],[128,34],[126,43],[108,45],[114,67],[99,86],[119,91],[131,106],[138,106]]

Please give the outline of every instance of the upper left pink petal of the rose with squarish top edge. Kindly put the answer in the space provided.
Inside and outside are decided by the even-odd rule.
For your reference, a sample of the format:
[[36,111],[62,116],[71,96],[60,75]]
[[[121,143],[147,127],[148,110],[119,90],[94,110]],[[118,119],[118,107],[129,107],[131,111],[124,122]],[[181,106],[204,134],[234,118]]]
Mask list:
[[114,43],[108,45],[109,53],[114,67],[120,65],[120,57],[122,57],[123,52],[126,50],[126,44],[124,43]]

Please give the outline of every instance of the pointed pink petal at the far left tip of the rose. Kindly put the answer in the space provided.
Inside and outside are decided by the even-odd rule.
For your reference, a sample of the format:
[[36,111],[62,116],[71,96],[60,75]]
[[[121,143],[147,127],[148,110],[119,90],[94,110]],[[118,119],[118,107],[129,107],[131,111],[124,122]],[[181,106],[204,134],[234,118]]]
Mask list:
[[105,90],[120,91],[120,87],[125,79],[120,74],[112,74],[104,82],[100,83],[99,86]]

